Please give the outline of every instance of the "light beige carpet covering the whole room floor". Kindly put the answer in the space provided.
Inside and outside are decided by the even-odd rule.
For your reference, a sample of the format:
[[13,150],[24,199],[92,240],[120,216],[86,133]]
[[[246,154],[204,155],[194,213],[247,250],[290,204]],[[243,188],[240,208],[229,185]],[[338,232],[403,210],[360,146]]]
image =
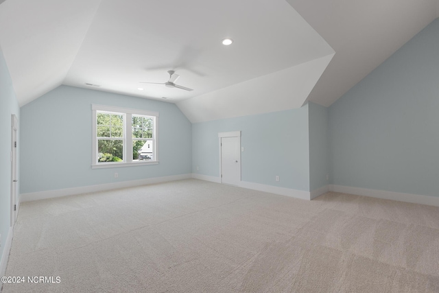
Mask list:
[[25,202],[3,292],[439,292],[439,208],[201,180]]

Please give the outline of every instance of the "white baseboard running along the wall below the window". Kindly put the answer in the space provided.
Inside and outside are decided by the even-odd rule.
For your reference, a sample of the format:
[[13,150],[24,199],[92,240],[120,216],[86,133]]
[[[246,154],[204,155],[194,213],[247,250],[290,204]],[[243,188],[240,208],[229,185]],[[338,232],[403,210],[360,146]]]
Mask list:
[[131,180],[131,181],[123,181],[117,183],[108,183],[101,185],[89,185],[82,187],[73,187],[66,189],[56,189],[56,190],[48,190],[48,191],[38,191],[31,192],[28,194],[21,194],[21,202],[27,202],[31,200],[44,200],[47,198],[59,198],[62,196],[73,196],[75,194],[88,194],[89,192],[96,191],[105,191],[110,189],[119,189],[126,187],[134,187],[141,185],[148,185],[154,183],[162,183],[167,181],[175,181],[192,178],[192,174],[181,174],[174,176],[164,176],[164,177],[155,177],[155,178],[146,178],[141,180]]

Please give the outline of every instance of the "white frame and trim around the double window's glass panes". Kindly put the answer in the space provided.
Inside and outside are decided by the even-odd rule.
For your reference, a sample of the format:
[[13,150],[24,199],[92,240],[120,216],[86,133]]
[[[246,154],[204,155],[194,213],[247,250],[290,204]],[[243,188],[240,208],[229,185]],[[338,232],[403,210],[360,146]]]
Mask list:
[[[130,108],[120,108],[113,106],[104,105],[91,105],[92,110],[92,161],[91,168],[109,168],[109,167],[129,167],[129,166],[139,166],[139,165],[157,165],[158,164],[158,113],[138,110]],[[123,162],[106,162],[97,163],[97,111],[105,111],[115,114],[122,114],[123,119]],[[132,161],[132,115],[149,116],[153,118],[154,128],[153,128],[153,158],[154,161]]]

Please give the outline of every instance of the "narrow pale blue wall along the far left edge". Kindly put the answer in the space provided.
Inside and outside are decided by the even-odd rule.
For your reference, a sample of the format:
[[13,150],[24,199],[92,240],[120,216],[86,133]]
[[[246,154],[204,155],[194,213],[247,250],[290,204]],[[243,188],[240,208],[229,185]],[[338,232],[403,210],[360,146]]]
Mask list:
[[[3,52],[0,50],[0,257],[3,255],[6,237],[10,227],[10,184],[11,184],[11,115],[20,116],[12,80]],[[20,145],[20,141],[19,141]],[[19,160],[19,153],[17,154]],[[17,166],[19,167],[19,166]],[[17,169],[17,175],[20,170]],[[19,177],[19,182],[20,182]],[[19,193],[20,191],[18,191]]]

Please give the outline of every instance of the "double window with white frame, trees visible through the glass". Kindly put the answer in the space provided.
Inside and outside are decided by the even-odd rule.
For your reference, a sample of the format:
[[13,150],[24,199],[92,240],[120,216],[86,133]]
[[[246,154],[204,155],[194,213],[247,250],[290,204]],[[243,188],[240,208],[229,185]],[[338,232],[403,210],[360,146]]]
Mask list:
[[158,113],[92,105],[93,168],[158,163]]

